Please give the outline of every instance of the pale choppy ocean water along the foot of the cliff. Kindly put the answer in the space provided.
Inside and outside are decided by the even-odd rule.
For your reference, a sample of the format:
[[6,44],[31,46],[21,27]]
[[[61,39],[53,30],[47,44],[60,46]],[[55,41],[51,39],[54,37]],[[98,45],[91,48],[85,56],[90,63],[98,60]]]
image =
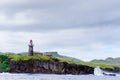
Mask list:
[[0,73],[0,80],[120,80],[120,76]]

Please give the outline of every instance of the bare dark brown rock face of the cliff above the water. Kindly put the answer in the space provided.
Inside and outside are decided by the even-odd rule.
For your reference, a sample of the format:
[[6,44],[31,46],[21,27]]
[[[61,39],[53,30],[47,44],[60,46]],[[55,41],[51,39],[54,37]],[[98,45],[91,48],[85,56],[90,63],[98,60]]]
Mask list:
[[93,74],[94,68],[56,60],[10,61],[11,73]]

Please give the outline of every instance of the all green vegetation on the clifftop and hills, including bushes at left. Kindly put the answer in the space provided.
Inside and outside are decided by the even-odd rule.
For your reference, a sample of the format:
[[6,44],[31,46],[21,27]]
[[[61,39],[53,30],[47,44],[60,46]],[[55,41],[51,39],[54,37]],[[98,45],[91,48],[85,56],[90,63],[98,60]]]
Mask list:
[[55,60],[58,59],[59,62],[67,62],[69,64],[80,64],[91,67],[100,66],[101,68],[110,68],[114,69],[114,67],[120,67],[120,58],[107,58],[106,60],[93,60],[91,62],[84,62],[79,59],[66,57],[59,55],[57,52],[45,53],[45,55],[35,55],[35,56],[27,56],[27,53],[1,53],[0,54],[0,69],[7,71],[10,69],[8,62],[11,61],[19,61],[19,60],[30,60],[30,59],[38,59],[38,60]]

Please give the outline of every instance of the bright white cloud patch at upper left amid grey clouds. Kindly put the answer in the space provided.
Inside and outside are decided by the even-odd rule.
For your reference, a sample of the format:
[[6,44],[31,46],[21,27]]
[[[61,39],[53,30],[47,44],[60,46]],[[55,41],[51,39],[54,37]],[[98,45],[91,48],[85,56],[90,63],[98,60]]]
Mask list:
[[29,15],[27,12],[16,13],[14,16],[9,17],[4,14],[0,14],[0,25],[5,27],[17,27],[17,26],[26,26],[31,25],[37,22]]

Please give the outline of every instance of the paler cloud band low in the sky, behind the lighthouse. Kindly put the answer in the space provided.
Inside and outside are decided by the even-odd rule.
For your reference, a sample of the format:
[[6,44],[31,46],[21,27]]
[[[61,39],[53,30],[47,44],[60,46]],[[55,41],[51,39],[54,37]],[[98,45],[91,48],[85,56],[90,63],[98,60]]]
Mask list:
[[[28,51],[28,42],[34,41],[35,51],[58,51],[62,55],[82,60],[118,57],[119,28],[87,28],[54,30],[48,32],[1,32],[1,51]],[[4,34],[4,36],[3,36]],[[114,55],[113,55],[114,53]]]

